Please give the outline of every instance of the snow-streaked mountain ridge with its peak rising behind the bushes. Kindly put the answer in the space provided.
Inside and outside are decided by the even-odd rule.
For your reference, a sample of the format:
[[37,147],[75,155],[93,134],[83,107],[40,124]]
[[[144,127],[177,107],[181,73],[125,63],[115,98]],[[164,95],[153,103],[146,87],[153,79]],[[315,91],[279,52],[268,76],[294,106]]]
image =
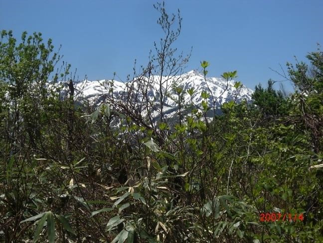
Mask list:
[[[178,78],[180,77],[180,78]],[[154,81],[153,81],[154,82]],[[162,91],[166,92],[163,94],[163,111],[164,115],[167,117],[172,117],[177,114],[178,104],[176,99],[178,99],[178,94],[175,89],[172,89],[172,85],[175,84],[182,88],[182,101],[185,104],[193,104],[199,107],[203,98],[201,97],[201,92],[207,92],[210,94],[207,102],[209,107],[213,106],[212,96],[215,100],[216,109],[220,109],[221,105],[230,100],[251,100],[251,95],[253,91],[245,86],[243,86],[239,93],[237,94],[236,88],[234,88],[235,81],[226,82],[221,78],[206,77],[198,72],[197,70],[191,70],[181,76],[174,76],[162,84]],[[156,103],[156,107],[159,105],[160,88],[158,86],[159,82],[142,82],[142,79],[135,79],[127,83],[122,83],[114,81],[113,83],[109,80],[101,81],[82,81],[76,83],[76,89],[79,91],[75,95],[75,99],[87,99],[94,102],[95,104],[100,104],[101,102],[107,102],[106,98],[108,96],[113,96],[115,100],[127,99],[127,94],[131,94],[133,97],[131,99],[145,99],[147,96],[150,99],[151,104]],[[147,85],[146,88],[143,85]],[[192,90],[193,93],[187,92]],[[141,92],[147,92],[147,94],[142,94]],[[139,94],[138,96],[134,94]],[[237,97],[237,99],[236,99]],[[141,101],[136,101],[137,104],[143,104]],[[152,111],[158,113],[156,111]]]

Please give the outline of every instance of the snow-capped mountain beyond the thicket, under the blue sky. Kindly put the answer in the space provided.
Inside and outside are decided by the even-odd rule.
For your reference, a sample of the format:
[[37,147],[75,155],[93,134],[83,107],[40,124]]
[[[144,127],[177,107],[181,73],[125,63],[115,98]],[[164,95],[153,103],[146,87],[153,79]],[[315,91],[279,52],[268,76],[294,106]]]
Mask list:
[[[162,87],[160,87],[162,84]],[[173,77],[139,77],[133,81],[123,83],[119,81],[100,80],[100,81],[88,81],[75,84],[76,95],[75,101],[88,100],[95,104],[101,102],[109,103],[113,101],[115,104],[121,102],[125,104],[126,101],[131,103],[131,108],[137,110],[142,114],[150,113],[153,117],[158,118],[161,111],[161,89],[162,89],[162,109],[164,118],[174,116],[178,111],[178,89],[181,92],[181,103],[191,104],[195,108],[201,107],[203,98],[201,97],[202,91],[208,93],[210,96],[207,101],[209,107],[213,107],[213,98],[215,100],[216,109],[228,102],[235,99],[237,96],[237,102],[241,100],[251,100],[253,91],[245,86],[241,89],[234,87],[235,81],[227,82],[223,78],[206,77],[204,79],[203,74],[197,71],[190,71],[181,76]],[[192,90],[190,95],[187,91]],[[210,92],[211,91],[211,92]],[[211,94],[210,94],[211,93]],[[238,93],[238,94],[237,94]],[[147,103],[144,102],[144,97],[147,97],[150,101],[150,108],[147,109]]]

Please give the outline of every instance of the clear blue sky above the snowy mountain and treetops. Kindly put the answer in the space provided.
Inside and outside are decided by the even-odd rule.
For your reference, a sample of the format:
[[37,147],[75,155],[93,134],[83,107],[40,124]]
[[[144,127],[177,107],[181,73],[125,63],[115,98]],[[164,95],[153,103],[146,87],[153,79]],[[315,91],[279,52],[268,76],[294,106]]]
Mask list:
[[[134,60],[146,65],[154,41],[162,37],[152,0],[0,0],[0,29],[42,32],[52,38],[79,79],[121,80]],[[168,13],[179,8],[182,32],[175,42],[188,53],[186,71],[207,60],[209,76],[238,70],[250,88],[281,71],[294,56],[305,60],[323,45],[323,0],[165,0]],[[285,68],[286,69],[286,68]],[[119,80],[120,80],[119,79]],[[291,90],[288,82],[283,82]]]

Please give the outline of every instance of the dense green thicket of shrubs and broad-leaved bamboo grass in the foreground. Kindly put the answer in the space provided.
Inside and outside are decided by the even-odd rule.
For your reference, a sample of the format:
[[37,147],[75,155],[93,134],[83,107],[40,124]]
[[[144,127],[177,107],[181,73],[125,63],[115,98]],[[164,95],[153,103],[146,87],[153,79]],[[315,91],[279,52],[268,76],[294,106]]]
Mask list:
[[[225,103],[210,121],[211,93],[183,104],[172,86],[150,102],[156,75],[162,87],[188,60],[171,47],[179,13],[155,8],[165,36],[137,75],[145,77],[140,102],[130,85],[122,100],[76,107],[72,81],[64,99],[62,87],[47,84],[69,74],[65,64],[55,71],[51,40],[23,33],[18,43],[1,32],[0,241],[323,242],[322,168],[314,166],[322,164],[323,52],[307,56],[310,66],[288,64],[293,94],[270,81],[252,104]],[[237,95],[235,76],[223,74]],[[170,89],[178,94],[172,123],[162,110]],[[282,218],[261,222],[266,212]]]

